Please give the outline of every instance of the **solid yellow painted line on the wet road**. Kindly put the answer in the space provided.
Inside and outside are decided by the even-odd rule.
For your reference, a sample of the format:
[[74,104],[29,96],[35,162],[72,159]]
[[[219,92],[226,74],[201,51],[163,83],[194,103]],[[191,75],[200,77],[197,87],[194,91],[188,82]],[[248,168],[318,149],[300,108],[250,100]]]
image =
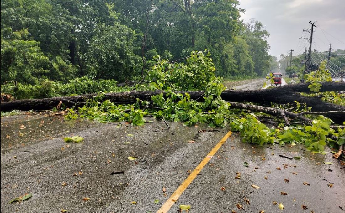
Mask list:
[[172,205],[177,201],[181,194],[186,190],[189,184],[195,179],[196,175],[204,168],[208,161],[213,157],[213,155],[218,151],[221,145],[229,138],[231,131],[226,133],[226,135],[217,143],[217,145],[208,153],[203,161],[193,170],[192,173],[186,178],[186,180],[175,190],[174,193],[169,197],[169,199],[160,207],[157,213],[166,213],[169,211]]

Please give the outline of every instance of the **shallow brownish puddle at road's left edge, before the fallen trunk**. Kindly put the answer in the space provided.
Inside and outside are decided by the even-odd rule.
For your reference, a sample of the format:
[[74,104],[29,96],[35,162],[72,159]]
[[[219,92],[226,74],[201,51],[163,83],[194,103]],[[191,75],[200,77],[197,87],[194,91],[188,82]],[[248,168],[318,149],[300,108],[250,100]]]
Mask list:
[[[73,129],[87,127],[95,122],[64,120],[64,117],[44,115],[17,115],[1,118],[1,151],[29,143],[53,139]],[[96,124],[96,123],[95,123]]]

